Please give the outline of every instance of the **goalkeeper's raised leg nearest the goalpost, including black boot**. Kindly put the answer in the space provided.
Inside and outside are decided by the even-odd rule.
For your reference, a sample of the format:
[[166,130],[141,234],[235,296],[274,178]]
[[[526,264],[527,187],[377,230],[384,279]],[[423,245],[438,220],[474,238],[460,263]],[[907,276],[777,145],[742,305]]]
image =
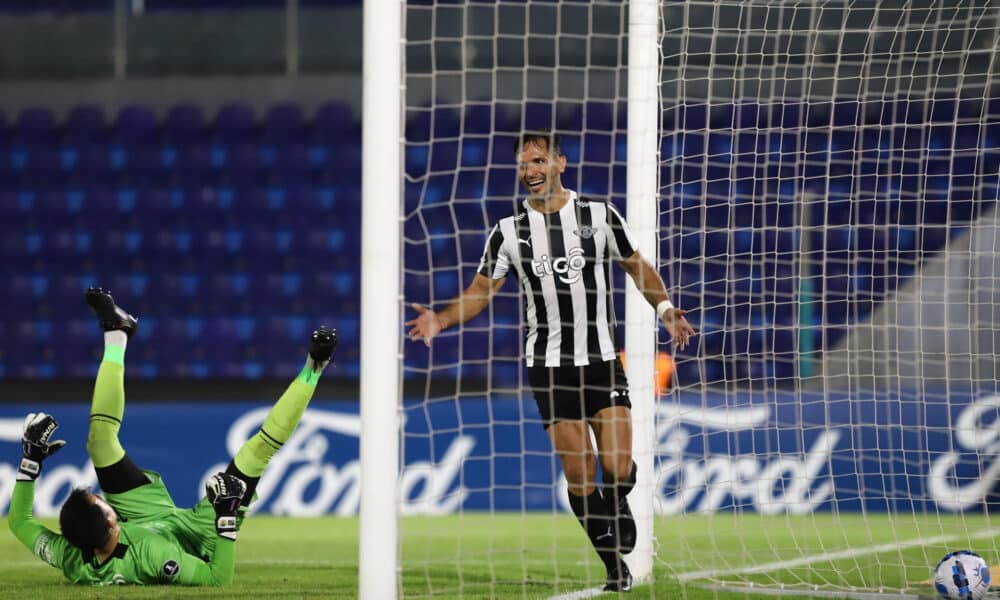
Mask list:
[[239,477],[247,484],[243,506],[249,506],[267,464],[298,426],[313,392],[316,391],[319,376],[333,358],[336,347],[335,330],[321,326],[313,332],[302,371],[271,408],[260,431],[243,444],[226,468],[226,473]]

